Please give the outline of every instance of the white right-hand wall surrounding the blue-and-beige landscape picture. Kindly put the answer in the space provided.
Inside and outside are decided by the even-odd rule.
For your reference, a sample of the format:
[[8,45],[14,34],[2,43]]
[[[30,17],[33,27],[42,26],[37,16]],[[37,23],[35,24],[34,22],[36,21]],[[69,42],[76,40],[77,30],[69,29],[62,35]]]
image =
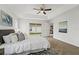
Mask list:
[[[61,21],[68,21],[68,33],[58,32]],[[79,6],[64,12],[52,20],[54,24],[54,38],[79,47]]]

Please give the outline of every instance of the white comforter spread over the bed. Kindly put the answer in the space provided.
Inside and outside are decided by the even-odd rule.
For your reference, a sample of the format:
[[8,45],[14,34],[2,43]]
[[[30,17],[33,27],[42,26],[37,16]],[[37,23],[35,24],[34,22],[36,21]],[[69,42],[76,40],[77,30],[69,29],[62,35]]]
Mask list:
[[16,43],[5,44],[4,54],[21,53],[36,49],[47,49],[50,44],[46,38],[30,38]]

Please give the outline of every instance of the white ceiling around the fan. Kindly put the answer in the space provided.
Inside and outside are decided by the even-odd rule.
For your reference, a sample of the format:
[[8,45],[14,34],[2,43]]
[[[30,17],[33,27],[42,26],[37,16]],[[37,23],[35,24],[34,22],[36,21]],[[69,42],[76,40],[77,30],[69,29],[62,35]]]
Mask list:
[[46,15],[42,13],[36,14],[38,11],[33,8],[40,8],[41,4],[3,4],[0,5],[0,9],[15,15],[18,18],[23,19],[39,19],[39,20],[50,20],[61,13],[68,11],[76,7],[73,4],[45,4],[46,8],[52,8],[52,11],[47,11]]

